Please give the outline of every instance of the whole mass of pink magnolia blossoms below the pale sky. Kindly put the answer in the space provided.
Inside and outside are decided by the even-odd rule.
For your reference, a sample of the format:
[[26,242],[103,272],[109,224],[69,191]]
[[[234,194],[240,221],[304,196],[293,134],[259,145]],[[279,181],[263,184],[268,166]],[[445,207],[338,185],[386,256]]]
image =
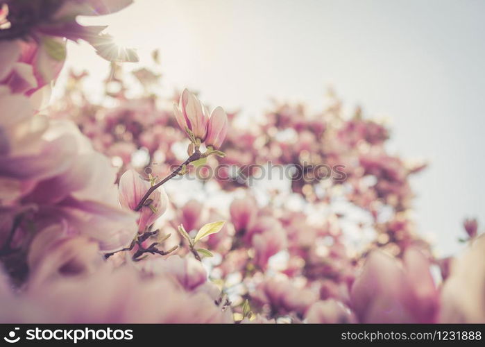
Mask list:
[[[434,259],[408,213],[409,177],[423,165],[389,155],[389,130],[364,119],[361,109],[344,114],[336,98],[316,114],[302,104],[276,104],[241,128],[239,115],[228,117],[219,107],[210,114],[184,90],[173,98],[172,117],[153,93],[158,71],[137,69],[125,78],[112,65],[102,95],[110,102],[93,103],[82,87],[86,74],[71,73],[65,95],[43,110],[66,40],[90,42],[110,60],[135,56],[113,50],[105,26],[76,22],[77,15],[108,14],[130,0],[41,2],[39,12],[33,1],[7,1],[10,13],[0,13],[0,112],[6,116],[0,117],[0,261],[8,271],[0,271],[0,321],[232,323],[230,305],[241,312],[237,305],[246,298],[253,319],[246,315],[241,323],[485,321],[476,222],[465,223],[470,249],[463,257]],[[24,13],[35,19],[31,25],[22,26]],[[158,54],[153,59],[158,63]],[[165,177],[183,160],[186,129],[196,145],[222,146],[226,167],[216,180],[203,178],[207,196],[158,220],[160,235],[137,235],[165,212],[168,200],[157,189],[133,211],[151,187],[133,169],[139,169],[133,154],[143,152],[151,174]],[[207,167],[216,161],[208,158]],[[258,205],[248,181],[232,179],[232,172],[253,178],[258,170],[248,165],[269,162],[294,169],[293,178],[285,181],[287,192],[255,189],[264,203]],[[340,177],[332,171],[318,180],[312,167],[320,164],[345,167]],[[192,194],[183,182],[171,183],[180,184],[174,192]],[[232,203],[212,205],[212,192]],[[343,207],[359,213],[349,218],[352,211]],[[194,246],[214,253],[205,252],[202,262],[174,230],[182,223],[194,237],[203,223],[227,219],[232,223]],[[352,229],[363,239],[369,229],[377,235],[349,242]],[[135,252],[160,242],[160,251],[180,246],[178,255],[134,261],[122,248],[136,237],[144,241]],[[441,266],[441,294],[431,264]]]

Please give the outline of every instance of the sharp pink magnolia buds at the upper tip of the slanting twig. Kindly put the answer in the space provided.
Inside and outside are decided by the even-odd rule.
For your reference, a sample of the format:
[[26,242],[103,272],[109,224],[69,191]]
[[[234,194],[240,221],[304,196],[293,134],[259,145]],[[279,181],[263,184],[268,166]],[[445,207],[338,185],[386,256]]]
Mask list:
[[209,111],[197,97],[185,89],[178,105],[173,105],[178,126],[190,130],[194,137],[206,146],[219,149],[228,133],[228,116],[221,107]]

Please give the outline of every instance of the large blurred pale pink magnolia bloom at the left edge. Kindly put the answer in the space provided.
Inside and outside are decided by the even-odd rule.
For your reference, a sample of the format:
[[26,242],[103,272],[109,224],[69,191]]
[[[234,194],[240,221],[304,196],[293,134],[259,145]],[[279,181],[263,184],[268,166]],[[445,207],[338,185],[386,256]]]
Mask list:
[[[129,244],[136,214],[119,206],[108,158],[71,121],[34,115],[24,95],[0,86],[0,104],[6,114],[0,117],[1,201],[12,206],[12,218],[27,206],[33,211],[15,230],[21,244],[53,223],[68,223],[72,234],[91,237],[102,251]],[[0,226],[0,234],[9,231]]]

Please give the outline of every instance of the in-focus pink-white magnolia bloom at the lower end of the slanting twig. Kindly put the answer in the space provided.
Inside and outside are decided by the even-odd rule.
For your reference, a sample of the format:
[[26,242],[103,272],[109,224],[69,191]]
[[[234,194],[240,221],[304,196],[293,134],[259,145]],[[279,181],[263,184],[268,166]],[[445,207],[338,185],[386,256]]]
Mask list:
[[[135,170],[126,171],[119,179],[119,203],[124,208],[135,210],[150,187],[150,183],[141,178]],[[163,187],[155,189],[147,201],[150,202],[140,210],[139,232],[144,232],[148,226],[151,226],[158,217],[165,213],[169,205],[169,197]]]

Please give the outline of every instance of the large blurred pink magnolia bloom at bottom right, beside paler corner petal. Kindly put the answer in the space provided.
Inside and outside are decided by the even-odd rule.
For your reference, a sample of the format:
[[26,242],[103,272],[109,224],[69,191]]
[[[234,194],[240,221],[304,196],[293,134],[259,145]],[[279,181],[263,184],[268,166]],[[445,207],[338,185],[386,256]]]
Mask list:
[[409,248],[402,262],[375,251],[351,291],[352,308],[361,323],[433,323],[438,290],[426,257]]

